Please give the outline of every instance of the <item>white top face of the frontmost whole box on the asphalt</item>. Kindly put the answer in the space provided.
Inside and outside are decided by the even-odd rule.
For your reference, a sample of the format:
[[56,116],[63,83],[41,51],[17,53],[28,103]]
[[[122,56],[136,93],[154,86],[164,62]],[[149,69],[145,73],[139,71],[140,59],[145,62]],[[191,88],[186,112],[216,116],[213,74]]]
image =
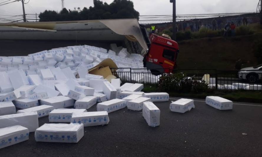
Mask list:
[[83,124],[78,123],[70,123],[70,124],[48,124],[45,123],[44,125],[40,126],[36,131],[48,131],[48,132],[67,132],[67,131],[77,131]]

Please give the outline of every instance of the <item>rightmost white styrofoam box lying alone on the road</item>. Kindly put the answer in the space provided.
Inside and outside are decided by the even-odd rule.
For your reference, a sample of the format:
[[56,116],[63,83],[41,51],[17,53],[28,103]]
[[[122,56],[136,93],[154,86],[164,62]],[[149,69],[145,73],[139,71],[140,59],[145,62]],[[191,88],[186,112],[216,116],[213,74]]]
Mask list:
[[222,97],[209,96],[205,98],[205,103],[219,110],[232,110],[233,102]]

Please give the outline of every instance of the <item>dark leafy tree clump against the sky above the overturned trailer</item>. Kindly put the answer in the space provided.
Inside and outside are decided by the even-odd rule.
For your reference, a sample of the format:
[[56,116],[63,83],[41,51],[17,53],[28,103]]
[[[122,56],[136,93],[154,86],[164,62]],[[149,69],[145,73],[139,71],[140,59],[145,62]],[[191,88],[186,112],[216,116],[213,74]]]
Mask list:
[[134,9],[134,4],[130,0],[114,0],[111,4],[103,3],[100,0],[93,0],[94,6],[89,9],[75,7],[73,11],[66,8],[59,13],[56,11],[44,11],[39,15],[39,21],[74,21],[74,20],[94,20],[94,19],[139,19],[139,12]]

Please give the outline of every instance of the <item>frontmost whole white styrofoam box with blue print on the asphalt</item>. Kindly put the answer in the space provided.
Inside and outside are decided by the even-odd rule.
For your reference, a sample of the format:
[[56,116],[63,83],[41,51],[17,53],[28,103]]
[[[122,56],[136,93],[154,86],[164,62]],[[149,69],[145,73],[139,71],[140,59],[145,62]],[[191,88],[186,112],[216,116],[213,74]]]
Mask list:
[[37,142],[77,143],[84,136],[83,124],[44,124],[34,134]]

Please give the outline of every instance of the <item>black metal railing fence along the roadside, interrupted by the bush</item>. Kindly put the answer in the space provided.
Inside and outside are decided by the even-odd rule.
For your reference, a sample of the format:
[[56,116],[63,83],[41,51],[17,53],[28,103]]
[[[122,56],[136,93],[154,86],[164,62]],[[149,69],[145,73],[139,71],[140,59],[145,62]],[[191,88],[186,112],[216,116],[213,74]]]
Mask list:
[[[157,85],[162,75],[158,69],[112,68],[112,74],[118,76],[123,83],[142,83]],[[262,90],[262,70],[215,70],[184,69],[173,73],[183,73],[185,77],[205,82],[210,88],[218,90]]]

